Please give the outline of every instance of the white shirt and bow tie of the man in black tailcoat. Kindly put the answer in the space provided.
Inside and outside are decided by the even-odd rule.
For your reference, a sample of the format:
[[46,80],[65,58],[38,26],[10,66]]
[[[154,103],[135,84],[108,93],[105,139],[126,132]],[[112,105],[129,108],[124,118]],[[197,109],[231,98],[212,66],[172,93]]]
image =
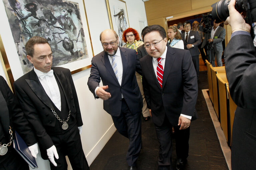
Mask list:
[[43,73],[35,68],[34,68],[34,71],[35,71],[41,85],[43,86],[46,94],[49,96],[49,98],[54,103],[54,105],[61,111],[61,99],[60,99],[59,86],[57,84],[55,77],[54,76],[52,76],[52,77],[45,76],[42,79],[41,75],[44,75],[46,73]]

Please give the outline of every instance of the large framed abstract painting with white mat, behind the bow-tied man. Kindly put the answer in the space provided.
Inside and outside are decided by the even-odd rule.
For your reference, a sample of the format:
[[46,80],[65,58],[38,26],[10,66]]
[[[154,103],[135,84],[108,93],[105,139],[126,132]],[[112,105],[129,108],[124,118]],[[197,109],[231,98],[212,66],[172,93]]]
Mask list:
[[0,35],[14,80],[33,68],[25,52],[33,36],[48,40],[53,67],[73,73],[90,67],[93,49],[84,0],[0,0],[0,11],[5,25]]

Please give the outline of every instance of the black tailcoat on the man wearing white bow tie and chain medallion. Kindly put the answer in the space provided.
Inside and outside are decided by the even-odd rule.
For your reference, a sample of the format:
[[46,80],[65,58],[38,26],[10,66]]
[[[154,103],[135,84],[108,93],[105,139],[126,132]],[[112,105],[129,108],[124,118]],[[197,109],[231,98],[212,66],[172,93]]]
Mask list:
[[[63,89],[71,116],[76,120],[77,126],[82,126],[78,98],[70,71],[61,67],[52,67],[52,70]],[[50,148],[53,142],[45,128],[54,127],[58,120],[51,111],[54,110],[53,103],[44,91],[34,69],[16,80],[14,88],[22,110],[36,131],[42,149]]]

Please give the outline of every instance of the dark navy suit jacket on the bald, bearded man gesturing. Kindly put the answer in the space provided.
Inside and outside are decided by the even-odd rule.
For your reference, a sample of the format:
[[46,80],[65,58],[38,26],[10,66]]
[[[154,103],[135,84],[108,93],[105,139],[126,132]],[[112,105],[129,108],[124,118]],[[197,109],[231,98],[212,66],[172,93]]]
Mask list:
[[128,48],[118,48],[120,49],[123,66],[121,85],[118,83],[108,56],[104,51],[92,58],[91,74],[87,82],[95,98],[97,96],[94,91],[99,86],[100,79],[103,85],[108,85],[106,91],[111,94],[111,97],[103,101],[103,108],[112,116],[119,116],[121,113],[121,94],[123,94],[133,114],[140,112],[143,106],[141,92],[135,76],[135,71],[142,74],[136,51]]

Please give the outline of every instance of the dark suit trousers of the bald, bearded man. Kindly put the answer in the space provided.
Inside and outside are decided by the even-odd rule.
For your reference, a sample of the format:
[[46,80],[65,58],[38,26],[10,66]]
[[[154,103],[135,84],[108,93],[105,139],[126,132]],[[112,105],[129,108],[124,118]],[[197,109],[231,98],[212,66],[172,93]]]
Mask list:
[[127,103],[122,99],[121,114],[112,116],[117,131],[129,138],[126,160],[129,166],[135,166],[142,147],[141,112],[132,114]]

